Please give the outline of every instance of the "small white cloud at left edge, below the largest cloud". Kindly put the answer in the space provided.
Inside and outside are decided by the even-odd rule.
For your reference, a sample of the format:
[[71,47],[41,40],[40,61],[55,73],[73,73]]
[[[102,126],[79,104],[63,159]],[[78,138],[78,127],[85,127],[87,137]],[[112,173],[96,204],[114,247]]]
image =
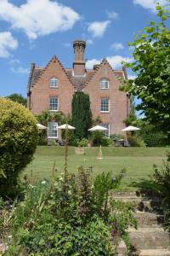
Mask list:
[[18,41],[10,32],[0,32],[0,57],[8,58],[10,50],[17,49]]

